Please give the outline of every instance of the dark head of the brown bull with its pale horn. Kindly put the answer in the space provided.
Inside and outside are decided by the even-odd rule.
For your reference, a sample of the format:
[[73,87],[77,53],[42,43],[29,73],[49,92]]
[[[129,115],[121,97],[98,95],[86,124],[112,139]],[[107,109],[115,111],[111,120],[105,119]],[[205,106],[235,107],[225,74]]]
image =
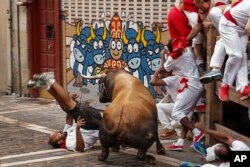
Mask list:
[[81,74],[86,79],[99,79],[99,101],[107,103],[112,101],[114,89],[114,75],[118,70],[106,70],[102,74],[95,76],[86,76]]

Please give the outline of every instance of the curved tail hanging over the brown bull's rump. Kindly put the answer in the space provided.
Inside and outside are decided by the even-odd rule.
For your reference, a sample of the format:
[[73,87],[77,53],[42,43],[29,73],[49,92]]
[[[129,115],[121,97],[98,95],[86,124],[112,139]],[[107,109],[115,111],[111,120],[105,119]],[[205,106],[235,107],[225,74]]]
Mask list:
[[120,118],[119,118],[119,122],[117,124],[115,124],[115,126],[113,127],[112,130],[108,129],[104,123],[104,121],[100,121],[100,120],[96,120],[94,119],[93,120],[93,123],[99,125],[100,128],[102,128],[102,130],[107,133],[108,135],[117,135],[117,130],[118,128],[120,127],[120,124],[121,124],[121,120],[122,120],[122,115],[123,115],[123,108],[124,106],[122,107],[122,110],[121,110],[121,113],[120,113]]

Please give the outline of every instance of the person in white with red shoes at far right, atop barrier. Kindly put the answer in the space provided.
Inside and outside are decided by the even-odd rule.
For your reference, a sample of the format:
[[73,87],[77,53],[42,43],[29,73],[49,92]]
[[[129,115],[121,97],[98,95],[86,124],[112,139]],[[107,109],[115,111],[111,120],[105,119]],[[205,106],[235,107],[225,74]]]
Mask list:
[[229,86],[233,85],[236,76],[236,91],[240,92],[240,99],[250,97],[246,53],[249,29],[250,1],[238,0],[224,13],[219,23],[219,33],[229,56],[219,88],[219,98],[222,101],[229,101]]

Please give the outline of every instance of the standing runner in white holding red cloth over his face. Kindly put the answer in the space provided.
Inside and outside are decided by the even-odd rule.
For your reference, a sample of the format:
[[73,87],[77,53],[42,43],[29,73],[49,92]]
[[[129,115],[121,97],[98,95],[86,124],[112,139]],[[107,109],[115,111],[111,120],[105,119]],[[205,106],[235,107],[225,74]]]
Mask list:
[[[187,42],[184,38],[169,41],[168,50],[170,54],[164,63],[164,69],[172,72],[178,78],[178,89],[174,104],[172,117],[183,126],[181,138],[177,143],[167,146],[169,150],[183,150],[185,132],[191,130],[194,133],[194,141],[199,141],[204,133],[195,128],[187,115],[193,111],[201,96],[203,86],[199,81],[199,74],[194,60],[194,54],[190,47],[186,48]],[[186,49],[185,49],[186,48]],[[184,52],[184,50],[186,50]],[[164,81],[160,81],[164,83]]]

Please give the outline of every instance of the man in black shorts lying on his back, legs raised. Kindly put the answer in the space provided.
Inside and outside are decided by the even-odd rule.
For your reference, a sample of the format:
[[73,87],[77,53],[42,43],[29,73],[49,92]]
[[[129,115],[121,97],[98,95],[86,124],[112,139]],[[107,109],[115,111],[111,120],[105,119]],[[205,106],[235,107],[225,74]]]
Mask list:
[[[99,123],[102,119],[100,110],[75,101],[76,96],[70,96],[55,81],[52,72],[35,74],[33,79],[28,82],[28,87],[47,89],[63,111],[67,113],[64,133],[58,131],[50,136],[49,143],[53,147],[66,147],[72,151],[83,151],[96,143]],[[76,125],[73,125],[73,119]]]

